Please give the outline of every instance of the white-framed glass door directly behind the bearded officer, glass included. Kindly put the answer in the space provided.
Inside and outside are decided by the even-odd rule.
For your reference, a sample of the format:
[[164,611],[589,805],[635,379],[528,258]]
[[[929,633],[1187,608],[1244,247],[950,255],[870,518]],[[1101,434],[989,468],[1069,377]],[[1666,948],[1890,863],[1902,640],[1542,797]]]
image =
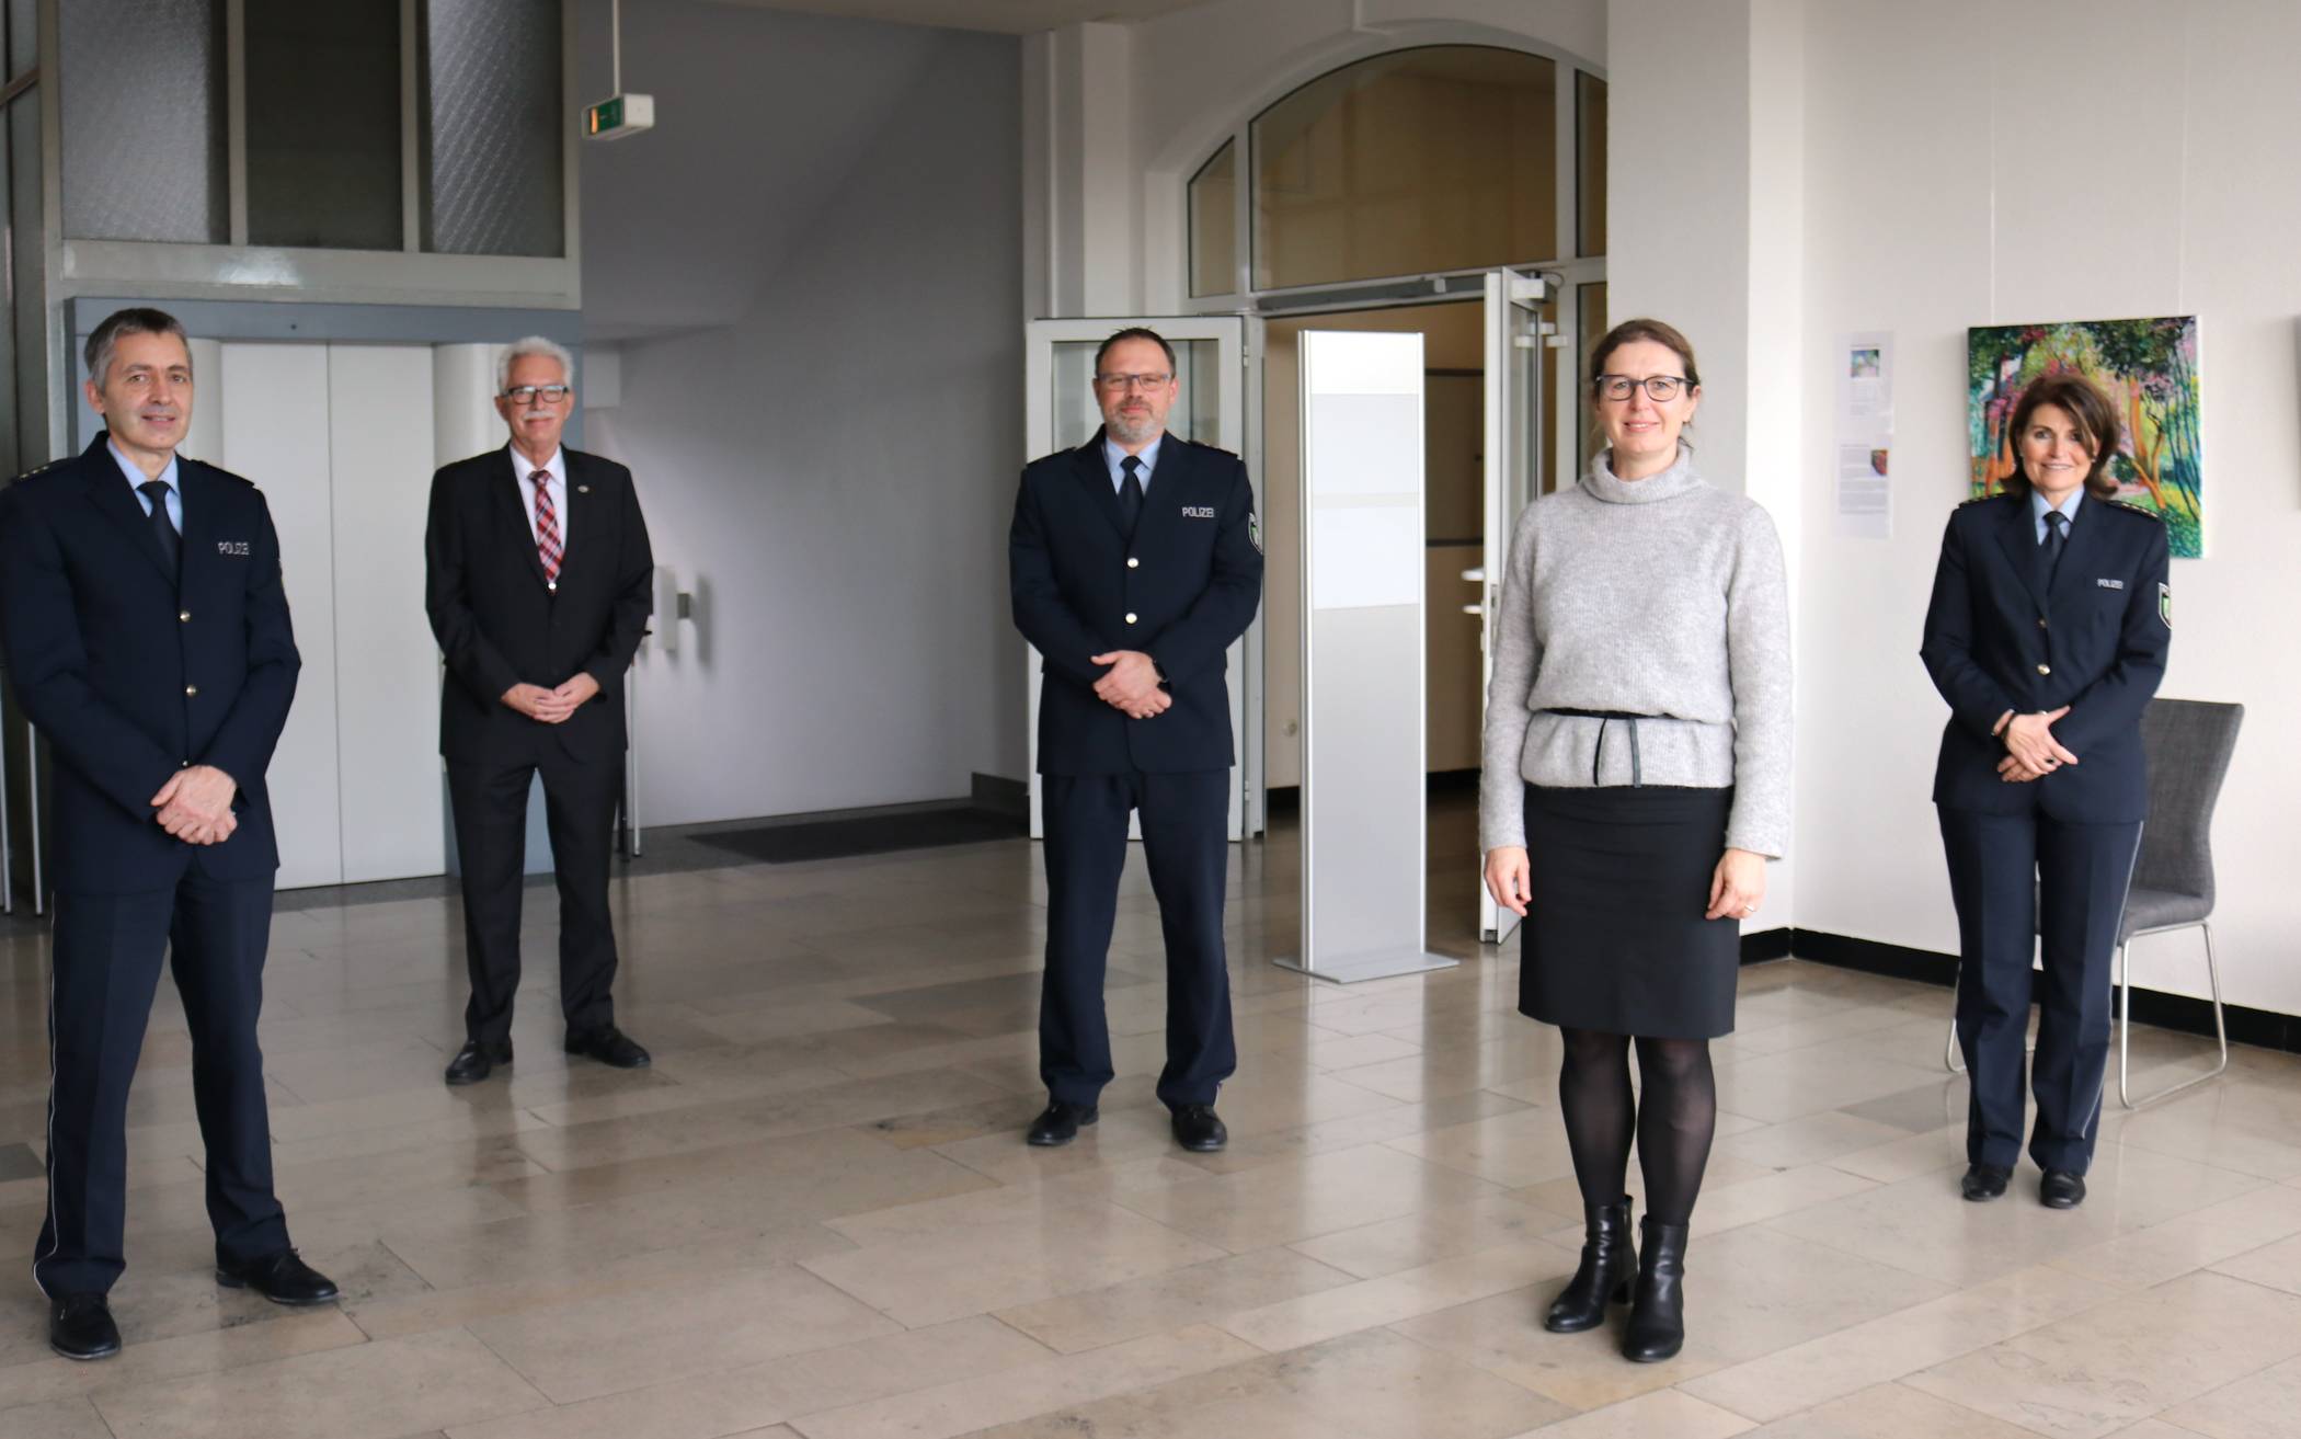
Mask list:
[[[1102,426],[1102,410],[1095,405],[1095,348],[1118,329],[1144,325],[1167,336],[1174,345],[1176,380],[1183,391],[1167,414],[1167,433],[1201,444],[1247,454],[1247,403],[1245,403],[1245,348],[1247,320],[1240,315],[1167,315],[1167,318],[1116,318],[1116,320],[1033,320],[1024,338],[1024,440],[1026,454],[1045,456],[1058,449],[1077,449],[1093,440]],[[1252,460],[1252,456],[1249,456]],[[1249,467],[1252,474],[1252,467]],[[1256,624],[1261,624],[1256,619]],[[1238,640],[1229,652],[1231,668],[1231,744],[1245,764],[1231,767],[1231,824],[1233,840],[1245,833],[1247,790],[1261,787],[1261,769],[1254,764],[1261,739],[1261,721],[1247,723],[1247,695],[1254,677],[1247,675],[1249,642]],[[1038,652],[1026,654],[1026,684],[1031,702],[1024,709],[1031,746],[1031,838],[1042,838],[1040,785],[1038,785]],[[1254,746],[1249,746],[1249,734]]]

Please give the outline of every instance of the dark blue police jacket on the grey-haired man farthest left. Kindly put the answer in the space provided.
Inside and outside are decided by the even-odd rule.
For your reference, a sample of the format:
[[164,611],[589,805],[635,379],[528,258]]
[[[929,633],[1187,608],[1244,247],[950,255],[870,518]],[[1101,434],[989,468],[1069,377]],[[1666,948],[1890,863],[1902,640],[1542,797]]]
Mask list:
[[[85,454],[0,490],[0,640],[23,711],[48,737],[60,893],[175,889],[278,868],[265,767],[301,658],[265,497],[177,456],[182,576],[97,435]],[[186,764],[239,787],[239,829],[186,845],[152,797]]]

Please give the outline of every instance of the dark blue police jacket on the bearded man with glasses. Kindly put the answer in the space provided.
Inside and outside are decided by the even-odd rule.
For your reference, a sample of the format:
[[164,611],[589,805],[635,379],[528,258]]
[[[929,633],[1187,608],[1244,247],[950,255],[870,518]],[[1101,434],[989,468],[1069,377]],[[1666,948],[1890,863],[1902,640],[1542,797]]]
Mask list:
[[[1102,431],[1022,472],[1008,532],[1015,626],[1040,654],[1040,774],[1229,769],[1224,652],[1263,596],[1263,550],[1245,463],[1178,435],[1160,442],[1132,543]],[[1127,718],[1095,695],[1088,656],[1141,649],[1174,705]]]

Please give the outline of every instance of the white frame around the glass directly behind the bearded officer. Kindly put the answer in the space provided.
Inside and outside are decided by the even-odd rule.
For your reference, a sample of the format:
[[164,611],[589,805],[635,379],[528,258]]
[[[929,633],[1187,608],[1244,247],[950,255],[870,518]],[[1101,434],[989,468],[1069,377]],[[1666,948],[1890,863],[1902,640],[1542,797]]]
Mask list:
[[[1169,343],[1183,341],[1213,341],[1215,343],[1215,433],[1213,435],[1190,435],[1201,444],[1217,444],[1222,449],[1238,451],[1252,463],[1247,454],[1249,428],[1247,428],[1247,327],[1245,315],[1118,315],[1118,318],[1091,318],[1091,320],[1031,320],[1024,325],[1024,454],[1045,456],[1058,449],[1072,449],[1086,442],[1086,435],[1058,435],[1058,417],[1054,412],[1054,348],[1065,343],[1100,343],[1118,329],[1141,325],[1167,336]],[[1199,375],[1187,378],[1190,385],[1203,385]],[[1249,467],[1252,474],[1252,467]],[[1238,764],[1231,767],[1231,817],[1229,838],[1240,840],[1247,833],[1261,831],[1263,817],[1263,746],[1261,746],[1261,608],[1256,608],[1254,624],[1247,633],[1231,642],[1226,656],[1231,675],[1238,679],[1231,686],[1231,744],[1238,753]],[[1024,723],[1029,725],[1029,753],[1031,753],[1031,838],[1045,838],[1047,827],[1040,813],[1040,776],[1038,776],[1038,691],[1040,691],[1040,658],[1038,649],[1024,645],[1024,665],[1029,684],[1029,702],[1024,705]],[[1249,668],[1252,665],[1252,668]],[[1252,792],[1252,801],[1247,794]],[[1254,820],[1252,829],[1247,820]],[[1137,831],[1139,833],[1139,831]]]

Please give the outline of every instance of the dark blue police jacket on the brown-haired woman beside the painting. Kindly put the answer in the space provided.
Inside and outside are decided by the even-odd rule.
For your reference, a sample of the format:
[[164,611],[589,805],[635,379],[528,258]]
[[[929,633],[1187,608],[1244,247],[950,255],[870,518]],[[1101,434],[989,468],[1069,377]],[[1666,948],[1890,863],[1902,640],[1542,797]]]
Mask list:
[[[2071,824],[2145,820],[2140,718],[2172,645],[2165,523],[2087,495],[2043,592],[2036,548],[2027,495],[1972,500],[1949,516],[1919,649],[1951,711],[1933,801],[2004,815],[2036,804]],[[2052,737],[2078,764],[2027,785],[1997,778],[1997,716],[2062,705]]]

